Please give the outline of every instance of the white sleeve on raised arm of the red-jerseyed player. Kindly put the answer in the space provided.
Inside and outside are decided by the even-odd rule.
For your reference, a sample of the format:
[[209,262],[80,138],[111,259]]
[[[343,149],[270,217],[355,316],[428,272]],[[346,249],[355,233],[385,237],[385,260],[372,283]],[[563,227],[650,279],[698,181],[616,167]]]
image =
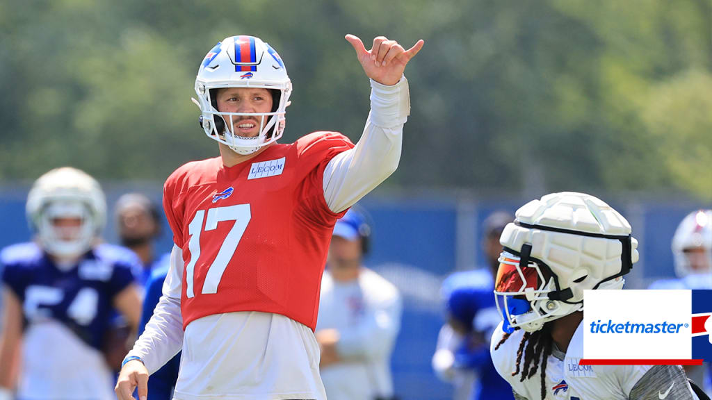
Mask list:
[[371,112],[361,139],[353,149],[331,159],[324,170],[324,197],[331,211],[349,208],[395,172],[409,113],[405,77],[392,86],[371,80]]

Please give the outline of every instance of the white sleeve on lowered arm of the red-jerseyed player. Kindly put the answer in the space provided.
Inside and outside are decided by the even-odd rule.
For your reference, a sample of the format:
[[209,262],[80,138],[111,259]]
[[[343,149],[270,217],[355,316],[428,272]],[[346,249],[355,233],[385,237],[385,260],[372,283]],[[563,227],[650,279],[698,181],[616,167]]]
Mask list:
[[140,357],[153,374],[183,346],[183,317],[180,310],[182,250],[173,246],[171,265],[163,283],[163,295],[153,311],[145,330],[128,356]]

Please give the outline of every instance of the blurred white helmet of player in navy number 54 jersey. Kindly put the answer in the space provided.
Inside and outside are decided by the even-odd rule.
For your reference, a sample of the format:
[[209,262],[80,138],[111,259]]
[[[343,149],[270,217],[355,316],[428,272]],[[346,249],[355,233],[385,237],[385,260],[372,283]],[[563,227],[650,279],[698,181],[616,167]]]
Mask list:
[[[81,256],[89,250],[106,221],[106,199],[98,181],[72,167],[43,174],[27,196],[27,219],[44,250],[61,259]],[[79,218],[80,226],[69,235],[55,219]]]

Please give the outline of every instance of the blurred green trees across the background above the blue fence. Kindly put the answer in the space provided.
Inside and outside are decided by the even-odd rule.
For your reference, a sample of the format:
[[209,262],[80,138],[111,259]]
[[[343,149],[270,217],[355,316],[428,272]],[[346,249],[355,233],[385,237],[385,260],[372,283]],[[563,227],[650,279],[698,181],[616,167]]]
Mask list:
[[0,1],[0,179],[71,164],[161,181],[213,157],[189,98],[204,53],[238,33],[286,60],[284,142],[357,140],[369,88],[343,39],[355,33],[426,40],[387,184],[710,198],[711,19],[708,0]]

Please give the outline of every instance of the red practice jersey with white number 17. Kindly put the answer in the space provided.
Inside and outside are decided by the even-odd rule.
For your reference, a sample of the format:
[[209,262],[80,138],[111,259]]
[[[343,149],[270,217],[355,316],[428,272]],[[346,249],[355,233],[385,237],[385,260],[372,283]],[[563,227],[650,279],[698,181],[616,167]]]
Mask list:
[[171,174],[163,206],[183,250],[184,328],[206,315],[260,311],[314,330],[331,233],[343,215],[326,204],[324,169],[352,147],[340,133],[315,132],[234,167],[216,157]]

